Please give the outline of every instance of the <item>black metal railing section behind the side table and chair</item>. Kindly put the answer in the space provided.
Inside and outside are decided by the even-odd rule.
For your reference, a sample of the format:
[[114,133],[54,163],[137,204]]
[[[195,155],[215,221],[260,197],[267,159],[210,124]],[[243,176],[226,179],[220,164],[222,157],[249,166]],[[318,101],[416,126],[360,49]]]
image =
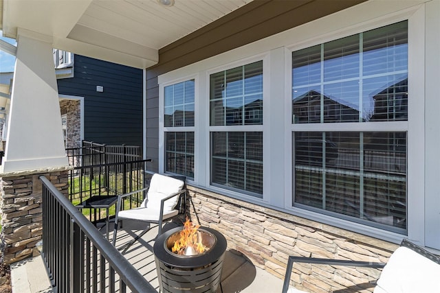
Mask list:
[[[66,149],[69,163],[69,200],[74,205],[82,204],[92,196],[115,196],[127,194],[144,187],[146,162],[142,160],[140,148],[130,145],[104,145],[83,141],[82,148]],[[142,202],[143,196],[131,196],[127,207]],[[115,209],[108,210],[109,216]],[[83,209],[91,222],[101,222],[107,213],[100,209]]]

